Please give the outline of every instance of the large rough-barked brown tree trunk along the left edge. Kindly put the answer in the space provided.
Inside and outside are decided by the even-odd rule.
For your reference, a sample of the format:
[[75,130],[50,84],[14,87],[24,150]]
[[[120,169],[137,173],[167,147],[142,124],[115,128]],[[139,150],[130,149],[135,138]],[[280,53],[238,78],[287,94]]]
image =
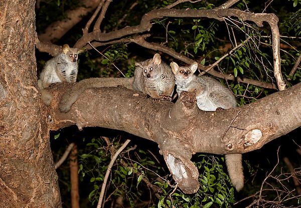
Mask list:
[[35,1],[0,2],[0,207],[61,207],[35,58]]

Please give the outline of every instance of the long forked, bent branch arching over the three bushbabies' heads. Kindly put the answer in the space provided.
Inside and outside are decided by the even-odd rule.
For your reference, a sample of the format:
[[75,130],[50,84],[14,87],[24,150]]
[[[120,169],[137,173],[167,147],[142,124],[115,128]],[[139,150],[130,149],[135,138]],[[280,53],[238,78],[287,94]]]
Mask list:
[[[175,10],[170,9],[178,4],[187,2],[186,0],[179,0],[175,2],[174,4],[167,6],[166,8],[162,9],[156,9],[153,11],[150,11],[146,13],[140,21],[140,24],[137,26],[131,26],[131,27],[125,27],[120,30],[112,31],[109,33],[103,33],[100,31],[100,24],[101,20],[104,17],[104,12],[107,10],[108,5],[110,4],[110,1],[100,1],[99,6],[95,13],[93,14],[91,20],[87,23],[83,36],[76,42],[74,45],[74,48],[82,48],[89,42],[96,41],[95,46],[103,46],[108,45],[112,43],[124,43],[124,42],[134,42],[142,47],[152,49],[152,50],[159,50],[164,53],[167,53],[171,56],[173,56],[176,59],[179,59],[186,64],[191,64],[194,60],[185,57],[173,49],[170,49],[168,47],[165,47],[163,45],[160,45],[158,43],[148,43],[145,41],[145,38],[147,35],[142,36],[135,36],[135,37],[129,37],[132,35],[138,35],[140,33],[144,33],[149,31],[152,28],[151,21],[158,18],[163,17],[173,17],[173,18],[184,18],[184,17],[190,17],[190,18],[212,18],[216,19],[218,21],[223,21],[223,17],[228,16],[234,16],[242,19],[242,21],[252,21],[257,24],[258,27],[262,27],[263,22],[267,22],[272,31],[272,41],[273,41],[273,56],[274,56],[274,75],[277,82],[277,86],[279,90],[285,89],[285,83],[282,78],[281,69],[280,69],[280,52],[279,52],[279,31],[277,27],[278,18],[274,14],[254,14],[249,12],[244,12],[237,9],[228,9],[235,3],[237,3],[237,0],[231,0],[227,1],[223,5],[212,9],[212,10],[191,10],[191,9],[183,9],[183,10]],[[196,1],[197,2],[197,1]],[[168,9],[167,9],[168,8]],[[98,23],[93,28],[93,31],[88,33],[89,27],[91,26],[91,21],[94,20],[94,18],[97,16],[97,13],[101,13],[98,17]],[[38,48],[42,51],[47,51],[45,47],[42,48],[42,46],[45,46],[45,44],[39,44]],[[91,47],[87,47],[88,49],[91,49]],[[50,49],[49,49],[50,50]],[[199,69],[206,71],[206,69],[210,66],[204,66],[199,64]],[[235,77],[232,74],[223,74],[221,72],[218,72],[214,69],[209,70],[207,73],[226,80],[237,80],[238,82],[247,83],[256,85],[263,88],[268,89],[277,89],[277,87],[273,83],[265,83],[257,80],[251,80],[248,78],[240,78]]]

